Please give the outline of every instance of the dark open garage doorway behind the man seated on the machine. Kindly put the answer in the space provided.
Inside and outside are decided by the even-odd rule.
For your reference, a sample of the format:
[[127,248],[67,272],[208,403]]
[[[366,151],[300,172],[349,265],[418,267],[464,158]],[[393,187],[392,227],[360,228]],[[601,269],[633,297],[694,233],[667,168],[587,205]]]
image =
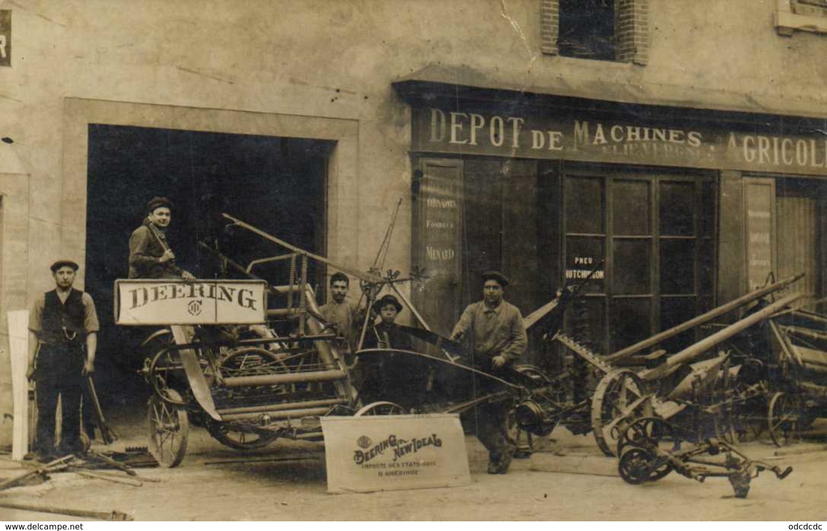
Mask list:
[[[112,288],[127,277],[128,241],[153,196],[175,207],[169,231],[179,266],[199,278],[220,275],[198,246],[220,239],[238,261],[275,254],[261,238],[227,238],[221,213],[324,254],[327,164],[334,141],[196,132],[153,127],[88,126],[85,289],[98,306],[98,392],[112,405],[142,405],[136,371],[138,334],[113,323]],[[266,271],[265,271],[266,272]],[[310,278],[323,271],[310,271]],[[270,279],[272,280],[272,279]]]

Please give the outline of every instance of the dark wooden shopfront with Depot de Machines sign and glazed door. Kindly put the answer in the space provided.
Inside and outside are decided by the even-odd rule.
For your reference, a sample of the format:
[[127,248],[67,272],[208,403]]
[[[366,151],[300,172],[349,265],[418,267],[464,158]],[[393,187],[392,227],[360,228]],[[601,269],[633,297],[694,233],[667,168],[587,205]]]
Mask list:
[[[768,281],[825,291],[820,121],[406,79],[418,299],[449,332],[503,270],[530,313],[589,279],[568,328],[616,352]],[[694,332],[662,347],[675,352]]]

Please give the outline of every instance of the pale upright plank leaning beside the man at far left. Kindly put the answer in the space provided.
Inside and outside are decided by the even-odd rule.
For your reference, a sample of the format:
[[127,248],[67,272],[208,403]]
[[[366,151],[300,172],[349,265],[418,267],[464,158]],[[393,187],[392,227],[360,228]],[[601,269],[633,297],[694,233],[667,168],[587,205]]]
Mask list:
[[12,459],[22,461],[29,452],[29,311],[12,310],[7,313],[9,357],[12,360],[12,400],[14,423],[12,428]]

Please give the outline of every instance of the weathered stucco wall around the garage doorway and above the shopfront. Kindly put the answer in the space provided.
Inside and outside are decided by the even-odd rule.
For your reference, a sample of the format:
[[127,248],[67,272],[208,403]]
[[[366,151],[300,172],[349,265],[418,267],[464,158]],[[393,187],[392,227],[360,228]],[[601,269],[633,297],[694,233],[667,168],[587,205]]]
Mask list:
[[[357,121],[358,208],[342,213],[356,217],[349,265],[370,265],[394,199],[404,197],[387,264],[407,272],[410,113],[394,79],[441,65],[518,86],[562,77],[790,98],[821,109],[827,36],[778,36],[775,3],[650,0],[643,67],[542,55],[538,0],[0,0],[13,28],[12,68],[0,68],[0,136],[14,139],[31,179],[25,304],[50,287],[45,266],[55,256],[83,258],[75,242],[84,227],[65,226],[61,214],[62,194],[84,193],[64,189],[64,159],[77,155],[64,151],[65,98]],[[61,233],[73,234],[68,247]],[[3,320],[25,304],[4,299]]]

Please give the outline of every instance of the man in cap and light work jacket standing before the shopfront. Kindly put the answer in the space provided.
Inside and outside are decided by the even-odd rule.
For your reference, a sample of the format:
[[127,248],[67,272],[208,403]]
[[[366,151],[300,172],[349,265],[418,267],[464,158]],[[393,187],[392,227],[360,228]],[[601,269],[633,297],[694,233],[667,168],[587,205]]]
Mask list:
[[[468,339],[474,366],[497,375],[519,360],[528,337],[523,316],[513,304],[503,300],[509,280],[499,271],[482,274],[483,299],[469,304],[451,334],[452,340]],[[489,452],[488,473],[505,474],[517,447],[509,439],[509,409],[503,402],[486,402],[477,407],[477,438]]]

